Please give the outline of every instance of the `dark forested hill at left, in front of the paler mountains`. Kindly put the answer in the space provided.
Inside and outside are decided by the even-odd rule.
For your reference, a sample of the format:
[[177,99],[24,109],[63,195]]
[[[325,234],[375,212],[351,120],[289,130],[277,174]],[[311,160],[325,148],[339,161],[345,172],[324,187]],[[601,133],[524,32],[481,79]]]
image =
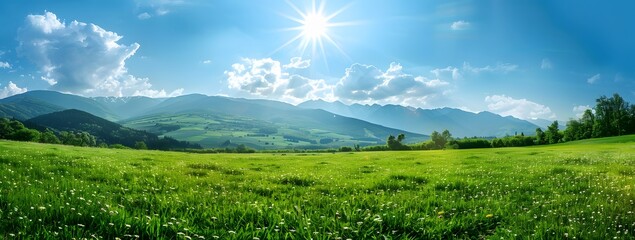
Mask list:
[[56,131],[84,131],[95,136],[98,142],[106,144],[122,144],[134,147],[136,142],[144,142],[151,149],[197,148],[184,142],[171,139],[160,139],[156,134],[123,127],[117,123],[96,117],[90,113],[69,109],[60,112],[40,115],[27,120]]

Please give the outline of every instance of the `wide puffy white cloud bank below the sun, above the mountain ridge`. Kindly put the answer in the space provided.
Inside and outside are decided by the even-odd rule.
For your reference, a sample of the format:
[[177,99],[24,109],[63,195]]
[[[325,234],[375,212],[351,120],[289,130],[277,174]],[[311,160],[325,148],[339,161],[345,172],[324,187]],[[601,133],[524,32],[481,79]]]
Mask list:
[[334,84],[292,71],[308,64],[308,60],[300,58],[291,59],[289,64],[271,58],[246,58],[233,64],[225,75],[230,89],[293,103],[320,98],[347,103],[424,106],[430,99],[443,95],[449,85],[440,79],[406,74],[398,63],[390,64],[387,70],[355,63]]

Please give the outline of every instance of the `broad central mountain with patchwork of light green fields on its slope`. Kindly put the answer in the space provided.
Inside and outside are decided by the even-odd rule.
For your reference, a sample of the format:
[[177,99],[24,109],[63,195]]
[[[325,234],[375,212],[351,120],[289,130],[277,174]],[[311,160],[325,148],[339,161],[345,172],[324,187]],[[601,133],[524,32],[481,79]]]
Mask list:
[[384,144],[388,135],[405,133],[407,142],[428,137],[387,128],[323,110],[290,104],[204,95],[165,100],[125,126],[200,143],[206,147],[245,144],[257,149],[338,148]]

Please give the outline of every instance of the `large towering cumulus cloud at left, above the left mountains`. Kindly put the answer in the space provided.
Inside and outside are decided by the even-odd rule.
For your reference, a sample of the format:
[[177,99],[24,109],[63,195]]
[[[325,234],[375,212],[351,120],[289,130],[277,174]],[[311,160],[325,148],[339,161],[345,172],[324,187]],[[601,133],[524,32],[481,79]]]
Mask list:
[[95,24],[61,22],[52,12],[28,15],[18,31],[19,54],[43,73],[51,89],[81,95],[123,96],[150,90],[148,79],[128,74],[126,60],[140,45]]

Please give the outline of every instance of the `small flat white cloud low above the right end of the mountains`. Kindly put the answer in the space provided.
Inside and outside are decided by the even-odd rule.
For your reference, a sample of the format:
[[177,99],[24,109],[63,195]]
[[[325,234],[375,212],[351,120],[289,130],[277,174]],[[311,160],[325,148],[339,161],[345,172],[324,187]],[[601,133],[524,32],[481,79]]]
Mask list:
[[489,111],[503,115],[514,116],[520,119],[555,119],[556,115],[545,105],[541,105],[527,99],[514,99],[505,95],[492,95],[485,97],[485,103]]

